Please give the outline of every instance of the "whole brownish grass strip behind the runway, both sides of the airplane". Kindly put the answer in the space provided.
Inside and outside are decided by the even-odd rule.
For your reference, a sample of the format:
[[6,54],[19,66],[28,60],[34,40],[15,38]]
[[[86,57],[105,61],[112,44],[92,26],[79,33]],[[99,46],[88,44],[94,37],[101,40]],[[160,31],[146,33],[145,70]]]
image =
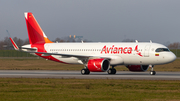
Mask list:
[[[78,70],[83,65],[62,64],[45,59],[0,59],[0,70]],[[117,71],[129,71],[125,66],[115,67]],[[155,65],[155,71],[180,71],[180,59],[165,65]]]

